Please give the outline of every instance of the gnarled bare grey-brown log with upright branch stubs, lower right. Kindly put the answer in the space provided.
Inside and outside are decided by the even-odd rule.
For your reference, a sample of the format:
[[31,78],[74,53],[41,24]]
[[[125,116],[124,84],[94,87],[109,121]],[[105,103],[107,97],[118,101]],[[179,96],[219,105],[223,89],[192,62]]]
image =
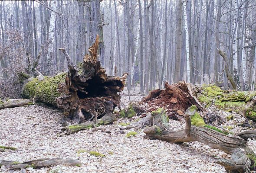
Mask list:
[[167,124],[164,109],[153,111],[154,126],[144,128],[144,133],[150,139],[159,139],[167,142],[202,142],[212,148],[232,155],[230,160],[220,159],[217,161],[217,163],[224,166],[228,172],[250,172],[250,167],[254,167],[256,155],[253,150],[246,145],[246,141],[238,136],[227,136],[210,128],[191,125],[190,116],[194,113],[195,112],[192,112],[192,110],[187,109],[185,113],[186,128],[173,131]]

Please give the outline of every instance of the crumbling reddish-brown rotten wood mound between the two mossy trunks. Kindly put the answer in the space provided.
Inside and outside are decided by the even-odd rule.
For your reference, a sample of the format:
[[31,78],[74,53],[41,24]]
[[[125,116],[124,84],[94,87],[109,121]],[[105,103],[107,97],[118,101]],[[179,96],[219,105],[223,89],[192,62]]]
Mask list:
[[[165,90],[152,90],[142,101],[147,112],[164,108],[167,115],[183,115],[185,110],[196,105],[197,102],[190,96],[185,83],[164,84]],[[197,106],[200,109],[200,106]]]

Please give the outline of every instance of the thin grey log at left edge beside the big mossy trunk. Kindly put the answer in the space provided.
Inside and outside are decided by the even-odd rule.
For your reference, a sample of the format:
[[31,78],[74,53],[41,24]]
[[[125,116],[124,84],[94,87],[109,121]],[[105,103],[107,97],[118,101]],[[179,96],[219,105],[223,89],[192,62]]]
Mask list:
[[0,109],[15,108],[19,106],[33,105],[33,101],[29,99],[9,99],[0,102]]

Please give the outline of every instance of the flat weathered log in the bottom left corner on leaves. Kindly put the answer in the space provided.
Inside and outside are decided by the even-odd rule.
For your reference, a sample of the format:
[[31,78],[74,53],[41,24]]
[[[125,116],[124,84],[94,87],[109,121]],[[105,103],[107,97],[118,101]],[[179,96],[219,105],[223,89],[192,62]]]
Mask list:
[[34,169],[40,169],[42,167],[51,167],[56,165],[66,165],[66,166],[81,166],[82,163],[79,160],[74,159],[61,159],[61,158],[46,158],[46,159],[38,159],[31,160],[28,162],[19,163],[16,161],[7,161],[0,160],[0,167],[5,166],[7,169],[16,169],[20,170],[22,168],[33,167]]

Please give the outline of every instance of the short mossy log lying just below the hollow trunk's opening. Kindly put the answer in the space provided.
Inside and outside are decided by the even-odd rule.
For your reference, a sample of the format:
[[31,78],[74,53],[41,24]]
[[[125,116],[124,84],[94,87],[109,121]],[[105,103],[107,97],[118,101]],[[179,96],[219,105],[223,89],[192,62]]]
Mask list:
[[82,131],[82,130],[86,130],[86,129],[89,129],[89,128],[98,127],[100,125],[112,124],[115,121],[116,121],[115,114],[106,114],[101,119],[97,119],[96,122],[91,121],[91,122],[68,125],[66,127],[63,127],[61,129],[63,132],[58,134],[58,136],[70,135],[70,134],[75,133],[77,131]]

